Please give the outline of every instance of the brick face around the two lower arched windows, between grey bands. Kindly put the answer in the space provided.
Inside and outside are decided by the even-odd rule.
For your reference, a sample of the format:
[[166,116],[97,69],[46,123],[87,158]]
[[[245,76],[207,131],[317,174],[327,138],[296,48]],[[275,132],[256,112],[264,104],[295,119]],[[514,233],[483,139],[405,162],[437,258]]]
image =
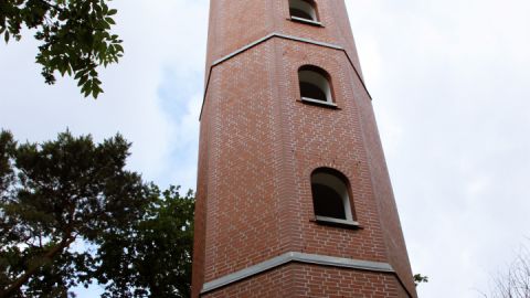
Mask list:
[[[361,119],[352,96],[348,60],[343,52],[317,45],[275,41],[283,53],[277,65],[285,82],[282,88],[287,125],[286,146],[293,152],[296,209],[299,238],[304,252],[368,260],[386,260],[379,211],[373,200],[370,172],[362,143]],[[301,103],[297,70],[304,64],[317,65],[331,76],[333,98],[339,109]],[[321,226],[310,222],[314,215],[310,173],[319,167],[341,171],[350,181],[352,205],[360,231]]]

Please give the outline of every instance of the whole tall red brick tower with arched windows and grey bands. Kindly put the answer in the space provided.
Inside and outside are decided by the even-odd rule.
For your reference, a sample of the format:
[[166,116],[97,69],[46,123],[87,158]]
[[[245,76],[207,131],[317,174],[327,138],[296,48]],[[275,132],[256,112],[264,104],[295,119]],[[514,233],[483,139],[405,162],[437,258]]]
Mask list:
[[193,297],[416,297],[343,0],[211,0]]

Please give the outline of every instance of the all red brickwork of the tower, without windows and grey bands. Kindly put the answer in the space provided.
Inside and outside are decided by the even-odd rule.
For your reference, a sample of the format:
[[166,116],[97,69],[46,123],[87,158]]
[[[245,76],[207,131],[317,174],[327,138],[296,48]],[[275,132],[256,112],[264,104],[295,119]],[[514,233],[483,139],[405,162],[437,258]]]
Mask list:
[[[317,2],[325,28],[286,20],[287,0],[212,0],[208,61],[272,30],[341,45],[357,64],[343,1]],[[330,74],[338,109],[299,100],[297,71],[305,64]],[[348,178],[361,230],[314,221],[310,173],[319,167],[337,169]],[[274,38],[211,68],[201,118],[193,297],[205,281],[286,252],[389,263],[415,296],[372,105],[354,68],[343,51]],[[278,270],[219,291],[226,296],[212,297],[312,297],[277,296],[294,290],[284,283],[299,276],[288,270],[292,267],[282,267],[286,272],[279,280],[263,281],[269,285],[264,291],[255,280]],[[359,286],[353,276],[358,273],[326,269],[339,273],[344,285]],[[307,267],[316,275],[326,269]],[[360,289],[373,284],[373,290],[386,289],[373,297],[404,297],[395,275],[371,275],[386,286],[370,281],[361,283]],[[263,296],[240,294],[245,292],[241,286],[245,283]],[[327,289],[315,287],[315,294],[307,295],[321,297],[318,290]]]

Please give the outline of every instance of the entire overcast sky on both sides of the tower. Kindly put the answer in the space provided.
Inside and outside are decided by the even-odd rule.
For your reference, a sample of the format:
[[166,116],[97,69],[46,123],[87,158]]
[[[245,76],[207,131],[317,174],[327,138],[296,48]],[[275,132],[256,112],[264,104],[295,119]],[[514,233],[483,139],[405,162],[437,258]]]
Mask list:
[[[0,127],[119,131],[130,169],[194,189],[208,2],[114,1],[126,54],[97,100],[45,85],[30,35],[0,44]],[[420,296],[479,297],[530,237],[530,1],[347,2]]]

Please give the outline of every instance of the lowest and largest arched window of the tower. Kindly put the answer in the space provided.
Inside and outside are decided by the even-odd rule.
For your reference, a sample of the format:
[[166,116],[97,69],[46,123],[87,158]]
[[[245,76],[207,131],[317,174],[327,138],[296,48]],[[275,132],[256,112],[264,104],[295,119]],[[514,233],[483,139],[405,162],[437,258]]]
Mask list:
[[342,173],[327,168],[315,170],[311,174],[311,192],[317,220],[356,223],[349,183]]

